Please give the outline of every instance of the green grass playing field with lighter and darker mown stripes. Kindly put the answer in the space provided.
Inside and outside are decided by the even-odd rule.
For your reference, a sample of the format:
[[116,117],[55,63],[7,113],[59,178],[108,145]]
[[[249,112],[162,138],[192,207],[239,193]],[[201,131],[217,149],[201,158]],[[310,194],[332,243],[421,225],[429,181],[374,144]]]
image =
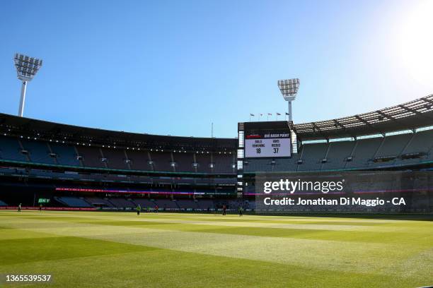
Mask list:
[[52,275],[35,287],[420,287],[433,222],[3,211],[0,255],[3,278]]

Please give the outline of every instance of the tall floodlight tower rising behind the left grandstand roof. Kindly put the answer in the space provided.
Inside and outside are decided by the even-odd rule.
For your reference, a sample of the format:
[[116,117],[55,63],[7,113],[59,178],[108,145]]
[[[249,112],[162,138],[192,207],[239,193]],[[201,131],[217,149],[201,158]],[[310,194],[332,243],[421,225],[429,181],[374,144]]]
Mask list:
[[15,62],[18,79],[23,81],[23,85],[21,85],[20,107],[18,109],[18,116],[22,117],[27,83],[33,79],[39,68],[42,66],[42,60],[16,53],[15,57],[13,57],[13,62]]

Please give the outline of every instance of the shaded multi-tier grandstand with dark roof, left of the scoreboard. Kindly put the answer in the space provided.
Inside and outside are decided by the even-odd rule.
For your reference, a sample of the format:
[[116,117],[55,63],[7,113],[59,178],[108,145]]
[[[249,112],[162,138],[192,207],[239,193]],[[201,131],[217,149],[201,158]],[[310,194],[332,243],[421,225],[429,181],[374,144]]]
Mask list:
[[213,198],[236,198],[236,139],[104,131],[6,114],[0,129],[3,206],[48,198],[59,208],[210,210]]

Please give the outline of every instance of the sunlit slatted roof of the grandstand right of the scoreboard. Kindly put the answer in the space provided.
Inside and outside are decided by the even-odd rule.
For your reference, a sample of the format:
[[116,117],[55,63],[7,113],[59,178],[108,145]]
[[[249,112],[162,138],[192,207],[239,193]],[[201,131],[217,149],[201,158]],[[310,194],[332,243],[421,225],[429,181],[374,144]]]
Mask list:
[[433,95],[374,112],[294,124],[299,140],[357,137],[433,125]]

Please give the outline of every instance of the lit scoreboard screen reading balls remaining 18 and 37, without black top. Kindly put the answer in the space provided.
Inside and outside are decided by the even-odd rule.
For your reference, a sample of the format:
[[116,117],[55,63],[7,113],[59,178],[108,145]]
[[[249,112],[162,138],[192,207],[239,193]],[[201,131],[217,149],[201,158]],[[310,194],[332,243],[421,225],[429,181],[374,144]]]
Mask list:
[[246,134],[245,157],[291,157],[290,133]]

